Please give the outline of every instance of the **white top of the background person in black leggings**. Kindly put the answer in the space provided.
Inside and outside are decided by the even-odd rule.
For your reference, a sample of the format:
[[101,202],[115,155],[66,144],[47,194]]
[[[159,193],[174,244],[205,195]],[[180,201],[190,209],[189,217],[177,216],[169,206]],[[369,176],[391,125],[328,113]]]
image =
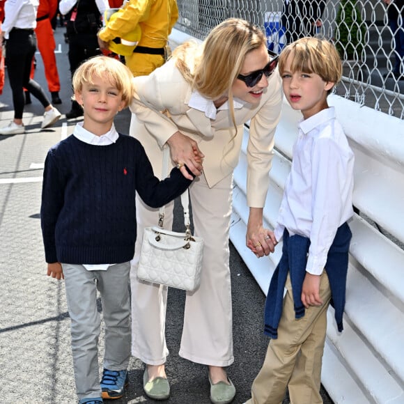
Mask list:
[[4,3],[4,22],[1,30],[4,38],[13,28],[36,29],[36,12],[39,0],[7,0]]

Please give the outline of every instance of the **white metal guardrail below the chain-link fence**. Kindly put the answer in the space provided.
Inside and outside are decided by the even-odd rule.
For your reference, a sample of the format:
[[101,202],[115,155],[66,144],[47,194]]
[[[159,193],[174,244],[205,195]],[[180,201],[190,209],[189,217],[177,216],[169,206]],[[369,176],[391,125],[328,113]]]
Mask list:
[[[174,30],[173,45],[190,38]],[[404,121],[341,98],[329,96],[355,153],[353,201],[359,214],[350,222],[352,242],[344,331],[328,316],[322,383],[334,403],[404,403]],[[277,219],[283,185],[290,171],[300,112],[284,101],[275,137],[265,226]],[[245,246],[249,209],[246,174],[248,127],[234,172],[231,242],[258,285],[267,293],[281,257],[256,258]]]

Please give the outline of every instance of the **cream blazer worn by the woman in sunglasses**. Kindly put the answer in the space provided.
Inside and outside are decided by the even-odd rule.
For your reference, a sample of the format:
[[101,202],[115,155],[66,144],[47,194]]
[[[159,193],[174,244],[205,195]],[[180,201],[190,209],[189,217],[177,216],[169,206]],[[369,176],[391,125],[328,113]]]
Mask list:
[[[135,95],[130,105],[130,135],[143,144],[157,176],[162,169],[162,148],[175,132],[194,139],[202,153],[203,173],[209,187],[233,173],[238,164],[244,123],[249,123],[247,144],[247,203],[263,208],[269,186],[268,173],[274,147],[274,134],[282,104],[281,77],[274,72],[261,102],[235,109],[237,134],[230,111],[217,112],[215,120],[188,106],[192,88],[173,60],[148,76],[134,77]],[[160,112],[160,111],[163,111]]]

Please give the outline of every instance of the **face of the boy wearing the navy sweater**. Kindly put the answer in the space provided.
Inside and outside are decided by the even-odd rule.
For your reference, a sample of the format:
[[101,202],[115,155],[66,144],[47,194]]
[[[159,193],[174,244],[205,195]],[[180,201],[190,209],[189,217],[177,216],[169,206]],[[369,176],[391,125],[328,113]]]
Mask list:
[[84,108],[84,129],[98,136],[109,132],[114,117],[125,107],[122,92],[98,76],[93,84],[85,83],[75,99]]

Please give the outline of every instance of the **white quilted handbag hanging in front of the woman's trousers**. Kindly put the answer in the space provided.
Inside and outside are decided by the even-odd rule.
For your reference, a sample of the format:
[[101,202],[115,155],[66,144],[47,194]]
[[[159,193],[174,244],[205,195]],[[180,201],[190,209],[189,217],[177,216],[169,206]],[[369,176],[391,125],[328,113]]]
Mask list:
[[185,233],[163,228],[164,206],[160,208],[159,226],[144,228],[137,277],[193,291],[201,281],[203,239],[194,237],[190,230],[188,190],[181,195],[181,203]]

